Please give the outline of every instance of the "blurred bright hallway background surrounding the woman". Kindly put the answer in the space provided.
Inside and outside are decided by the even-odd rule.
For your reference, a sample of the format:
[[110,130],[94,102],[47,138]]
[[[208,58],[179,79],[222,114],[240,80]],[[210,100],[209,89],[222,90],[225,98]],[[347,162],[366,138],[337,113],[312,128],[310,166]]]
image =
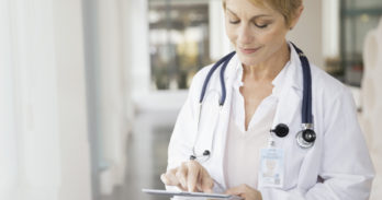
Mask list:
[[[381,199],[382,1],[304,3],[288,37],[353,92]],[[192,77],[229,50],[221,0],[0,0],[0,199],[160,199]]]

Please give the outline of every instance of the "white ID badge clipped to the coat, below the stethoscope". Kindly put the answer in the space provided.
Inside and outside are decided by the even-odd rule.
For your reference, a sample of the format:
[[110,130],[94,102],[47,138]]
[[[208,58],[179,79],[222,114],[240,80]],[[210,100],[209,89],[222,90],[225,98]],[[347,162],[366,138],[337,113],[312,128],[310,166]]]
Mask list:
[[284,151],[265,148],[260,151],[259,187],[281,188],[284,181]]

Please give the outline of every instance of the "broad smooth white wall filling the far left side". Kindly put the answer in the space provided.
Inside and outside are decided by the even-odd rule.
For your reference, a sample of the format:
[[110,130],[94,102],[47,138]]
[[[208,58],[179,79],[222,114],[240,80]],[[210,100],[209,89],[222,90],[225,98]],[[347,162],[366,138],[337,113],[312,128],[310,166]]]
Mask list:
[[0,199],[89,200],[80,1],[2,0],[0,13]]

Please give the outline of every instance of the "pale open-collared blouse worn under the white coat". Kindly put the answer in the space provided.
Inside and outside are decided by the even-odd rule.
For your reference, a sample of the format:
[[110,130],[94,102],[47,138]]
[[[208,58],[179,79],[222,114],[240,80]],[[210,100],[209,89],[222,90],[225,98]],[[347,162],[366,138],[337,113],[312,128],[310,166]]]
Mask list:
[[239,87],[243,86],[243,67],[240,63],[237,66],[225,152],[225,179],[228,188],[241,184],[252,188],[258,186],[260,150],[268,144],[269,130],[272,128],[278,106],[278,95],[282,90],[289,64],[290,62],[272,81],[272,94],[257,107],[249,121],[248,130],[245,130],[245,102],[239,91]]

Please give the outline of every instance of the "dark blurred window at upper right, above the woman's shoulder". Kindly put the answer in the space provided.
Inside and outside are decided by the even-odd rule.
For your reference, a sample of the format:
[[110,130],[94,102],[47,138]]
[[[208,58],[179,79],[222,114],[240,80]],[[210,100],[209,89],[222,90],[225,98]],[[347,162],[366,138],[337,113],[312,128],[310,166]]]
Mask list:
[[362,51],[367,34],[378,26],[382,16],[381,0],[341,0],[340,80],[360,86],[363,71]]

